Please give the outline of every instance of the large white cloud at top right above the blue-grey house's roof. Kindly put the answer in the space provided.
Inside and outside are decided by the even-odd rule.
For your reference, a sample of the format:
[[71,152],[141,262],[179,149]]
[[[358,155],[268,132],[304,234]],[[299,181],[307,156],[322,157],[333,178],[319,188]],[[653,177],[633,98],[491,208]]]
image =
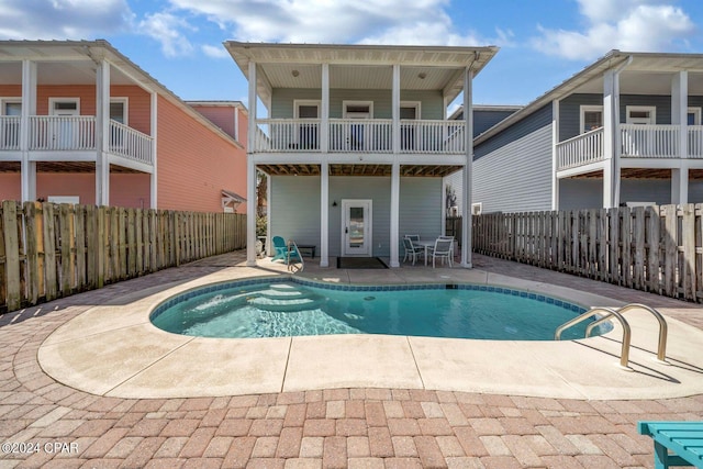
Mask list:
[[663,52],[676,49],[696,33],[691,18],[661,0],[578,0],[588,20],[583,31],[538,26],[535,48],[568,59],[593,59],[607,51]]

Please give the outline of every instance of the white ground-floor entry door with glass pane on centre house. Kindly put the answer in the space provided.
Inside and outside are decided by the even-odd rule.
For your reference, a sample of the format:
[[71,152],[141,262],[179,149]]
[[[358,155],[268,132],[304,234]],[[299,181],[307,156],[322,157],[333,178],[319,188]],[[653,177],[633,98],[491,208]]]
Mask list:
[[342,256],[371,256],[371,201],[342,200]]

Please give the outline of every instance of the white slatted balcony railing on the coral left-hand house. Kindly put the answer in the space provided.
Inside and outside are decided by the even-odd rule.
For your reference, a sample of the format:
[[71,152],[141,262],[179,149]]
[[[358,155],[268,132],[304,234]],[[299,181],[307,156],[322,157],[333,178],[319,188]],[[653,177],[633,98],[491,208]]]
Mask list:
[[[21,149],[20,116],[0,116],[0,150]],[[110,121],[110,152],[152,164],[153,137],[116,121]],[[96,118],[92,115],[31,115],[31,152],[97,150]]]

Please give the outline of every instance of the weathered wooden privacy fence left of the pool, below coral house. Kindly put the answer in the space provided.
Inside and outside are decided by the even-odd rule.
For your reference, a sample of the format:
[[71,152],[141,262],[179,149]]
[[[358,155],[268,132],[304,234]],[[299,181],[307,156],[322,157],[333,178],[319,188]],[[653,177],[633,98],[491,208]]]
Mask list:
[[2,202],[0,312],[246,246],[246,215]]

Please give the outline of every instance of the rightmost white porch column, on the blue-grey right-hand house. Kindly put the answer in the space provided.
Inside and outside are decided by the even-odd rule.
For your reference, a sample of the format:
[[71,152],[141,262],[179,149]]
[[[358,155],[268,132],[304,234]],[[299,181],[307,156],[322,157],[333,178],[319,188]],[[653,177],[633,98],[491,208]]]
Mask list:
[[679,158],[681,167],[671,170],[671,203],[689,202],[689,72],[681,70],[671,80],[671,123],[679,125]]

